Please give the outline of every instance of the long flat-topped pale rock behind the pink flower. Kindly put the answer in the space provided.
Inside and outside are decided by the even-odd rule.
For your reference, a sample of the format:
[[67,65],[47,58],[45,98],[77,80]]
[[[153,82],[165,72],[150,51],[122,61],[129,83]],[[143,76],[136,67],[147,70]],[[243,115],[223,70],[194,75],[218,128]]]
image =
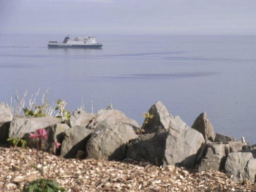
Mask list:
[[14,117],[9,130],[9,138],[24,137],[38,129],[45,129],[60,123],[61,119],[54,117]]

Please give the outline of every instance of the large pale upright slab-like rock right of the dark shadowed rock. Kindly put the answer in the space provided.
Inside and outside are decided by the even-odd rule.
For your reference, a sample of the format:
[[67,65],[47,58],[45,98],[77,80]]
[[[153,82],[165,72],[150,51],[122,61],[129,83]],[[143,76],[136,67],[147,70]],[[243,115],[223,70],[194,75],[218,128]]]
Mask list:
[[192,129],[179,116],[169,123],[164,161],[168,165],[182,165],[193,168],[197,162],[200,148],[205,140],[201,133]]

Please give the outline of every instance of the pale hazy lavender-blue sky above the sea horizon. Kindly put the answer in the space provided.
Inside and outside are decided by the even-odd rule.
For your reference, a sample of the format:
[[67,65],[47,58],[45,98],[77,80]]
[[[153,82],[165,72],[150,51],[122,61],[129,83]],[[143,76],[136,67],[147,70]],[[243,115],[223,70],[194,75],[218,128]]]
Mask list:
[[0,0],[0,33],[256,35],[256,1]]

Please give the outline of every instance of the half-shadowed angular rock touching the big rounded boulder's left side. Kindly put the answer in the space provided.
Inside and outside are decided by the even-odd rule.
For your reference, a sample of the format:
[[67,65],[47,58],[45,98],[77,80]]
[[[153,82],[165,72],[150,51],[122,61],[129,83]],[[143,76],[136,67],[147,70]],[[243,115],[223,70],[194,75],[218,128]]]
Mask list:
[[65,138],[61,144],[60,156],[64,158],[75,158],[78,151],[85,152],[86,143],[91,133],[92,130],[86,129],[86,126],[74,126],[66,130],[64,133]]

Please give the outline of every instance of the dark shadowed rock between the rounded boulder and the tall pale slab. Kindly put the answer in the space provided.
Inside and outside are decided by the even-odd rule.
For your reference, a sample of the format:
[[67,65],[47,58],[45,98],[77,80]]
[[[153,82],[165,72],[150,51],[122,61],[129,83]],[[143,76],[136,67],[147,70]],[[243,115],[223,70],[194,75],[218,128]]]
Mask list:
[[126,144],[127,159],[146,160],[162,165],[168,132],[140,135]]

